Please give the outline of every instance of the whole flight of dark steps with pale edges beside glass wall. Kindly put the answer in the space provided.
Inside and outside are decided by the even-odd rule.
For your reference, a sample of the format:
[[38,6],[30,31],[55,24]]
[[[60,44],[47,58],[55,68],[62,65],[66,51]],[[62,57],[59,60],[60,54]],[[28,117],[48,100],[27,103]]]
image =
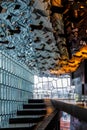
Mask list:
[[23,104],[23,109],[17,111],[17,116],[9,119],[8,128],[0,130],[34,130],[46,115],[46,105],[43,99],[29,99]]

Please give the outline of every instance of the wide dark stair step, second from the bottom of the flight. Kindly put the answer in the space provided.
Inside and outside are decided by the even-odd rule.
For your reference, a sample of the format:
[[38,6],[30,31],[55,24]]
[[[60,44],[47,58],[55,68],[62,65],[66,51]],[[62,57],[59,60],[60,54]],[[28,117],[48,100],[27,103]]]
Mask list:
[[14,117],[9,119],[10,124],[22,124],[22,123],[38,123],[44,118],[44,116],[27,116],[27,117]]

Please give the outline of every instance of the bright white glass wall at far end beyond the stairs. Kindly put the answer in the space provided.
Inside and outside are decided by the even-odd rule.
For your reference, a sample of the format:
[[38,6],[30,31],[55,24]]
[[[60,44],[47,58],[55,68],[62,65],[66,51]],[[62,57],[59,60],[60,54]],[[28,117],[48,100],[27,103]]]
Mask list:
[[74,88],[70,76],[40,77],[34,76],[34,98],[74,98]]

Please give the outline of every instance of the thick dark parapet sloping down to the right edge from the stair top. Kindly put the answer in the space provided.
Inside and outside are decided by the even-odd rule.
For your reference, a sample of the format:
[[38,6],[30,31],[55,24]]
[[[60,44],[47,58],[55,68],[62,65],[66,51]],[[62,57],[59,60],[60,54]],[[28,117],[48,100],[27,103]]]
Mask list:
[[87,107],[82,107],[77,104],[73,104],[72,102],[68,103],[54,99],[52,100],[52,104],[57,111],[67,112],[73,117],[78,118],[80,121],[87,122]]

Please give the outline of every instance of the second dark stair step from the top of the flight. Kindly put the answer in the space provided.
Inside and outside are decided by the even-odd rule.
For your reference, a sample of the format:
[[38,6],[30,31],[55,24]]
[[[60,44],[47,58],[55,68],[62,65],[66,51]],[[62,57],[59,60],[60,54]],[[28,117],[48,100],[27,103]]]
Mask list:
[[46,105],[44,103],[30,103],[30,104],[23,104],[23,109],[28,109],[28,108],[32,108],[32,109],[36,109],[36,108],[45,108]]

